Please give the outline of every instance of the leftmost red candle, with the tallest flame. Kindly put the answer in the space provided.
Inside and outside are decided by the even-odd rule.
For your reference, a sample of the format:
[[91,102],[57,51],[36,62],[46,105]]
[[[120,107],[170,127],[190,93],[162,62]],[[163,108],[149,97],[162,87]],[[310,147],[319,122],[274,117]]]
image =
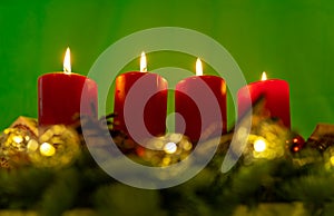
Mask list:
[[[38,78],[38,120],[40,126],[70,125],[81,114],[97,117],[97,84],[85,76],[71,73],[67,49],[63,72]],[[85,94],[85,98],[81,98]]]

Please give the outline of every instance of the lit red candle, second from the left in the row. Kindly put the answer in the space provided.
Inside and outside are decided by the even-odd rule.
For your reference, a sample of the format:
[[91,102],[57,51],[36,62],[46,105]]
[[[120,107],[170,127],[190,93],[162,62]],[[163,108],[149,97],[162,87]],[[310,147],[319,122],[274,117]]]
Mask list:
[[130,71],[116,78],[114,118],[115,129],[127,132],[141,143],[166,131],[167,81],[146,69],[141,53],[140,71]]

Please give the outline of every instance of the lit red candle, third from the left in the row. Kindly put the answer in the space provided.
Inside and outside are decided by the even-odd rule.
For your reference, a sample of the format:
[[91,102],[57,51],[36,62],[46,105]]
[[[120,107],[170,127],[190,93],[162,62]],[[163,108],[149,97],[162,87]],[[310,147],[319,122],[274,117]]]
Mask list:
[[226,132],[226,84],[216,76],[203,76],[197,59],[196,75],[177,84],[175,89],[176,132],[193,143]]

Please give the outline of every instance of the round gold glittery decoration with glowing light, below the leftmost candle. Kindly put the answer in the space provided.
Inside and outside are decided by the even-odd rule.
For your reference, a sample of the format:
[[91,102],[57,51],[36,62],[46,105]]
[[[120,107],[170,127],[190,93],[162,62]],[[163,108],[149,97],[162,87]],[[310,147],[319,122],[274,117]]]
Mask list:
[[63,167],[71,164],[79,153],[79,135],[63,125],[50,126],[39,136],[38,143],[28,146],[29,158],[38,167]]

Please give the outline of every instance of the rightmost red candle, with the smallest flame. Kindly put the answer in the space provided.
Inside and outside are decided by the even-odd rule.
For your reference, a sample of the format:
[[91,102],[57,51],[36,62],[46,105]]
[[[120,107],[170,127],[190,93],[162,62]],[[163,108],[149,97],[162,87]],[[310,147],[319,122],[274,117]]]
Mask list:
[[263,72],[261,81],[249,84],[238,91],[238,116],[242,117],[249,110],[249,98],[252,105],[259,98],[265,99],[265,109],[268,116],[278,118],[282,122],[291,128],[289,116],[289,88],[285,80],[266,79]]

